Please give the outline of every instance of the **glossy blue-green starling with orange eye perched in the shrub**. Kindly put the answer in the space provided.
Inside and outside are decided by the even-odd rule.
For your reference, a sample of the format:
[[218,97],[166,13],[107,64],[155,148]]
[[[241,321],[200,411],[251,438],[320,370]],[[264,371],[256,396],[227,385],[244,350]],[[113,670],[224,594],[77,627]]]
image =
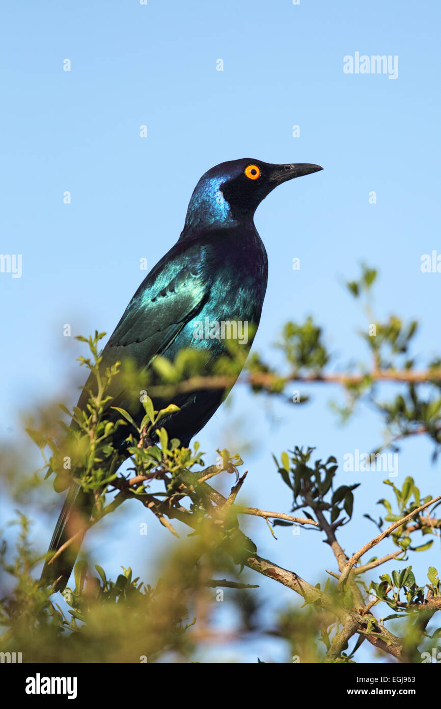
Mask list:
[[[190,348],[207,354],[206,368],[211,372],[213,363],[229,353],[228,335],[236,335],[249,348],[268,278],[268,259],[253,222],[254,212],[277,185],[321,169],[315,164],[269,164],[243,158],[222,162],[202,175],[181,236],[137,289],[105,345],[101,367],[130,357],[142,372],[151,368],[155,357],[173,360],[180,350]],[[86,406],[90,388],[93,384],[88,382],[79,408]],[[118,378],[110,394],[110,406],[130,411],[140,425],[145,412],[139,398],[130,398]],[[161,425],[169,437],[188,446],[226,394],[225,390],[202,389],[174,396],[179,411]],[[156,410],[172,403],[153,401]],[[109,410],[109,418],[112,415]],[[92,506],[90,494],[72,484],[49,552],[59,549],[84,525]],[[71,545],[52,564],[45,564],[42,578],[54,584],[55,590],[66,586],[78,550],[79,544]]]

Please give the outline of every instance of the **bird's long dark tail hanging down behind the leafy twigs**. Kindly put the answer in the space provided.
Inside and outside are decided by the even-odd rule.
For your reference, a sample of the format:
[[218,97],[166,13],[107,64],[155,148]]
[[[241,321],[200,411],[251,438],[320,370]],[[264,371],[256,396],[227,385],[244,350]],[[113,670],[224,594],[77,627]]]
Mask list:
[[81,530],[91,518],[93,498],[90,493],[85,493],[81,486],[72,484],[64,501],[62,511],[50,540],[47,553],[57,552],[71,537],[78,535],[69,547],[64,549],[59,556],[50,562],[48,559],[43,566],[41,580],[47,584],[54,584],[54,591],[64,591],[69,576],[74,568],[75,560],[83,541],[84,532]]

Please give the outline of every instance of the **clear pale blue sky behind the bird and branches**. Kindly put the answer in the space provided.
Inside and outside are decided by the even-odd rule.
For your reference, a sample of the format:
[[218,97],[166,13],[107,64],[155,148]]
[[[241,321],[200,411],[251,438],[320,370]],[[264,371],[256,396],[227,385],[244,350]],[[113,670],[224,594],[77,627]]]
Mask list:
[[[396,0],[5,0],[0,250],[22,255],[23,274],[0,273],[0,437],[16,440],[21,410],[56,398],[71,381],[81,384],[74,363],[81,350],[63,337],[64,323],[73,334],[110,334],[145,275],[139,259],[153,267],[178,238],[200,175],[239,157],[324,168],[280,186],[256,213],[270,269],[256,350],[272,356],[282,323],[311,313],[338,353],[331,369],[360,359],[365,351],[355,330],[364,320],[343,282],[365,260],[380,273],[377,316],[420,320],[421,367],[439,351],[441,274],[420,272],[421,255],[441,252],[439,21],[435,2]],[[398,78],[345,74],[343,57],[355,52],[397,55]],[[141,125],[147,138],[139,137]],[[293,257],[301,259],[297,272]],[[242,430],[258,442],[246,459],[244,496],[253,506],[289,508],[271,452],[315,445],[318,457],[341,459],[381,440],[381,422],[370,411],[340,428],[328,406],[338,389],[302,393],[312,403],[273,406],[274,421],[263,399],[239,389],[232,408],[223,406],[197,437],[208,458],[231,420],[243,419]],[[411,474],[435,495],[439,471],[429,457],[423,440],[406,442],[397,482]],[[340,533],[354,552],[374,535],[361,515],[377,516],[384,486],[381,474],[340,472],[342,482],[348,476],[363,483],[357,522]],[[134,504],[121,513],[111,549],[103,534],[91,534],[96,562],[113,574],[120,563],[142,574],[168,542],[153,521],[148,543],[140,542],[143,519]],[[42,546],[48,524],[37,530]],[[279,528],[276,542],[264,523],[251,529],[263,557],[309,581],[333,565],[317,535],[293,537]],[[425,574],[437,555],[414,554],[407,563]],[[293,596],[270,581],[262,587],[268,618]],[[286,659],[284,647],[265,640],[235,652],[228,657]],[[372,661],[370,649],[363,652]]]

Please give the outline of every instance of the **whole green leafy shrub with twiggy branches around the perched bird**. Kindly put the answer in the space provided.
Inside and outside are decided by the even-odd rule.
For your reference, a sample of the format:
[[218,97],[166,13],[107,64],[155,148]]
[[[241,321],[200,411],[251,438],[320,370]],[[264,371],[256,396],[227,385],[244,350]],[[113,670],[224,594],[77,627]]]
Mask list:
[[[192,381],[200,387],[202,376],[210,386],[227,392],[242,369],[241,378],[253,393],[270,396],[280,406],[286,406],[287,400],[305,403],[307,387],[315,381],[329,381],[343,386],[345,406],[335,406],[343,418],[353,415],[365,401],[382,417],[384,445],[395,451],[399,440],[425,435],[435,444],[435,459],[441,445],[441,357],[416,371],[416,357],[409,353],[418,323],[405,325],[394,315],[384,323],[375,320],[372,288],[376,279],[376,270],[363,264],[360,279],[347,284],[350,294],[365,303],[368,318],[360,335],[370,360],[368,365],[358,364],[356,372],[352,367],[338,374],[330,371],[335,355],[328,352],[323,330],[311,317],[283,328],[276,343],[283,358],[280,371],[257,352],[247,359],[248,348],[234,340],[227,343],[228,354],[210,366],[204,353],[183,350],[173,362],[156,358],[147,373],[137,372],[130,360],[103,369],[98,347],[104,333],[79,337],[91,353],[79,358],[90,373],[86,406],[70,411],[61,405],[65,420],[50,403],[23,415],[43,464],[36,471],[28,470],[25,441],[17,448],[10,442],[4,445],[1,477],[6,501],[21,508],[33,505],[35,515],[38,509],[47,508],[45,479],[53,474],[57,491],[76,481],[93,496],[91,526],[100,524],[127,500],[137,499],[146,516],[153,514],[172,536],[158,568],[150,571],[156,581],[144,581],[124,567],[111,579],[83,554],[74,569],[74,586],[65,589],[61,600],[37,580],[44,555],[33,545],[29,516],[18,512],[5,525],[0,547],[4,571],[1,651],[23,652],[24,661],[191,662],[200,661],[207,648],[212,652],[226,646],[239,648],[235,654],[232,651],[232,657],[240,661],[241,642],[251,639],[258,647],[265,638],[277,638],[285,647],[287,662],[354,662],[366,640],[383,659],[389,653],[401,661],[422,661],[421,653],[432,652],[441,632],[433,624],[433,616],[441,609],[439,572],[429,565],[426,576],[417,579],[408,562],[411,554],[428,552],[440,537],[441,520],[435,516],[439,501],[430,503],[433,496],[422,493],[410,476],[401,487],[384,480],[386,493],[378,501],[383,516],[375,520],[372,510],[364,516],[379,533],[386,523],[396,526],[381,542],[383,557],[363,557],[348,571],[338,530],[356,523],[360,485],[339,483],[336,457],[313,460],[314,448],[298,445],[273,456],[275,472],[287,491],[284,513],[246,508],[236,502],[246,479],[246,474],[239,478],[237,468],[243,465],[239,454],[218,450],[205,467],[205,453],[197,442],[187,448],[168,437],[167,423],[178,406],[155,410],[152,401],[152,392],[163,393],[168,401],[175,395],[178,399],[181,388]],[[142,420],[134,420],[130,404],[126,408],[114,405],[115,378],[122,378],[130,396],[142,402]],[[400,391],[383,401],[379,388],[385,378]],[[299,398],[287,395],[296,379],[304,389]],[[120,465],[126,457],[130,468],[122,473]],[[236,481],[223,496],[212,483],[217,476],[225,481],[231,473],[236,474]],[[53,504],[51,500],[50,509]],[[426,508],[419,510],[423,505]],[[257,514],[272,533],[275,527],[290,527],[294,533],[302,524],[295,516],[299,511],[309,520],[305,530],[319,533],[333,552],[333,570],[321,583],[302,581],[298,586],[295,569],[286,571],[260,559],[256,545],[241,530],[243,515]],[[401,523],[407,515],[410,519]],[[178,536],[177,522],[180,535],[186,525],[188,537]],[[14,530],[18,530],[15,547],[11,543]],[[386,563],[394,566],[388,573],[381,569]],[[269,620],[268,612],[263,613],[263,591],[256,591],[253,583],[258,576],[251,576],[248,569],[273,579],[273,584],[280,581],[292,588],[293,598],[300,593],[302,607],[273,600]],[[316,576],[322,578],[323,569],[316,569]],[[225,617],[222,621],[223,601],[228,608],[227,623]],[[378,609],[384,610],[382,618],[374,615]],[[349,621],[355,621],[355,629],[346,637],[342,631]],[[256,651],[256,661],[263,661],[260,651]]]

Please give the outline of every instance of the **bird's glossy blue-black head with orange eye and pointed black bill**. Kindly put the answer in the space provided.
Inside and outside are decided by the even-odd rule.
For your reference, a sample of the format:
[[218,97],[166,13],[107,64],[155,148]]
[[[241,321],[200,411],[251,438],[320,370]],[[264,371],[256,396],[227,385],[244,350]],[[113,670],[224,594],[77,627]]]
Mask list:
[[200,178],[188,205],[184,233],[194,228],[252,222],[260,202],[277,185],[318,172],[309,163],[270,164],[244,157],[212,167]]

